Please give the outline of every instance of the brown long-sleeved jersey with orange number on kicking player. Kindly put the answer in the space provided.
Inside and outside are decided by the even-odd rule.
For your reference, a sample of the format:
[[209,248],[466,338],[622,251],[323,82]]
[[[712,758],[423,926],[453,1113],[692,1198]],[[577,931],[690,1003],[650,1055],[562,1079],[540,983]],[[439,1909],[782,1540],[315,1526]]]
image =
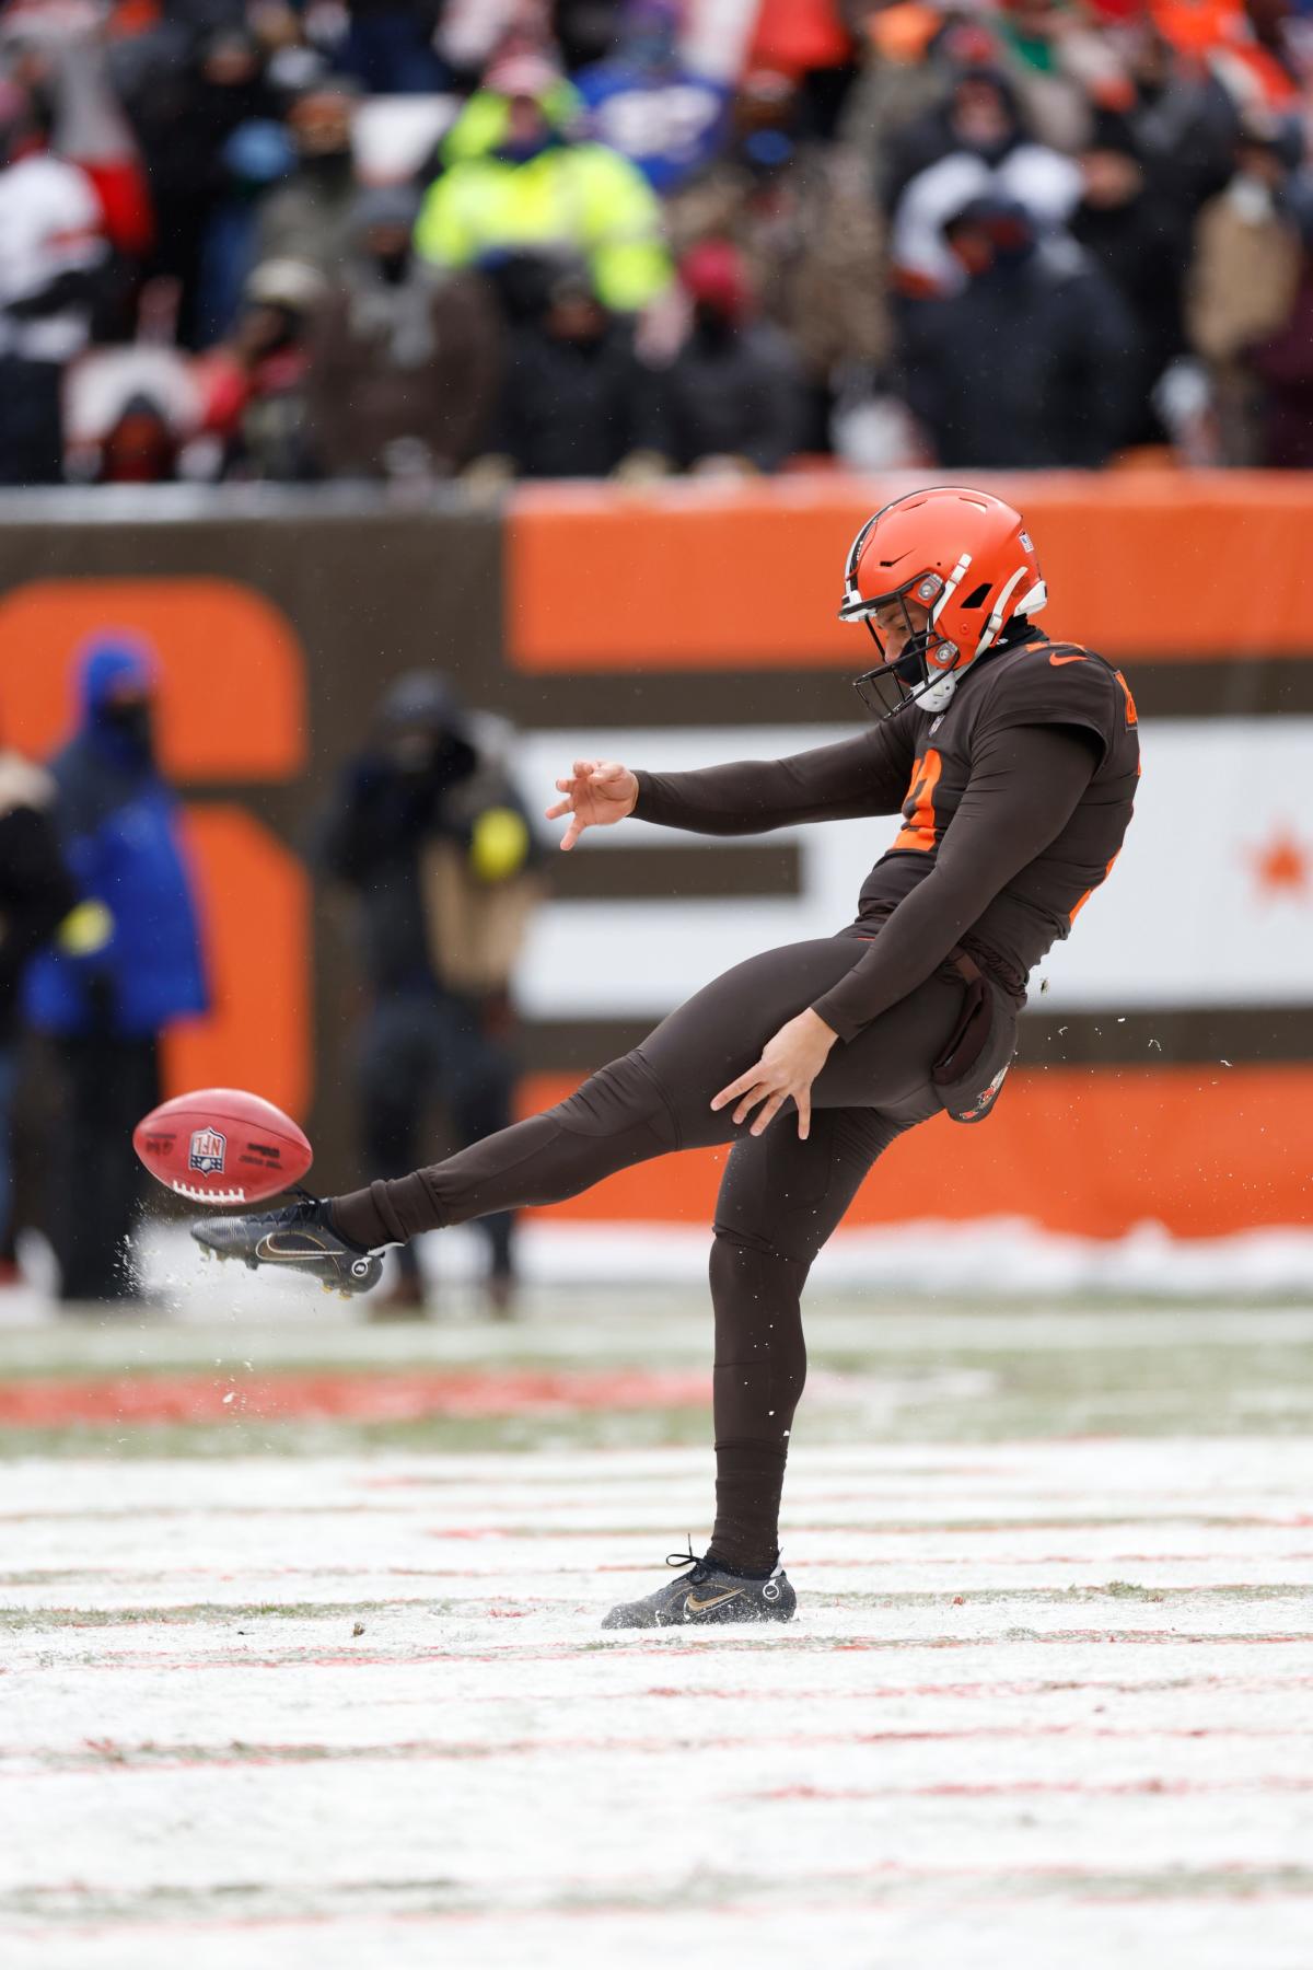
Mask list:
[[907,707],[791,758],[640,772],[634,814],[744,835],[902,812],[844,932],[872,938],[870,950],[815,1003],[848,1040],[955,946],[1024,995],[1032,967],[1112,869],[1138,774],[1122,674],[1032,630],[972,664],[937,717]]

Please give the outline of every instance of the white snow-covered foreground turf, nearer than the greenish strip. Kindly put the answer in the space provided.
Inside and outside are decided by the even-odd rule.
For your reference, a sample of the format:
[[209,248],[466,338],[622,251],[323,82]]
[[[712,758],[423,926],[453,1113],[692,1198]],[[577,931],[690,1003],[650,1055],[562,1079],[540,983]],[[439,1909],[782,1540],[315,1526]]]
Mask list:
[[705,1452],[14,1464],[4,1962],[1293,1970],[1307,1476],[799,1448],[797,1623],[612,1635]]

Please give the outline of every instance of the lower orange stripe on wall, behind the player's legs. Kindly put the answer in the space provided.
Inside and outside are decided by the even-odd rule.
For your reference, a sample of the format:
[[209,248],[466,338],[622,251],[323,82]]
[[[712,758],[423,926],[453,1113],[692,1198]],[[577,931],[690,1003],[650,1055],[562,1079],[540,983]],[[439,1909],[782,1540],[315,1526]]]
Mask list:
[[[573,1085],[530,1076],[524,1111]],[[622,1170],[547,1215],[711,1225],[726,1154]],[[1030,1070],[1010,1078],[986,1123],[963,1129],[941,1115],[894,1143],[846,1223],[1030,1217],[1118,1237],[1154,1219],[1179,1237],[1217,1237],[1305,1223],[1311,1178],[1313,1068]]]

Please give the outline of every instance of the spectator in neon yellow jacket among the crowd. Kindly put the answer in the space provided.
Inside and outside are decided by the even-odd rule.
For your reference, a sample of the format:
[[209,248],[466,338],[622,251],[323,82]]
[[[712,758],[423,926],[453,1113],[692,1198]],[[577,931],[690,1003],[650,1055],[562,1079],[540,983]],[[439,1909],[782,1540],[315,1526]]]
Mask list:
[[583,104],[541,57],[500,61],[443,146],[415,248],[439,266],[508,254],[577,254],[598,299],[638,313],[667,286],[661,207],[642,171],[606,144],[575,142]]

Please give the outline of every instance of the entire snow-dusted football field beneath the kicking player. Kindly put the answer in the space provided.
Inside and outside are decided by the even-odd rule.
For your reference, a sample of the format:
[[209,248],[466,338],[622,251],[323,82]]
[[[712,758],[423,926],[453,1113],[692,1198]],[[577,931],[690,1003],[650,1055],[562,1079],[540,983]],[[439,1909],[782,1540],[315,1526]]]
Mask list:
[[12,1322],[0,1962],[1307,1970],[1311,1338],[823,1302],[799,1619],[604,1635],[705,1535],[695,1296]]

